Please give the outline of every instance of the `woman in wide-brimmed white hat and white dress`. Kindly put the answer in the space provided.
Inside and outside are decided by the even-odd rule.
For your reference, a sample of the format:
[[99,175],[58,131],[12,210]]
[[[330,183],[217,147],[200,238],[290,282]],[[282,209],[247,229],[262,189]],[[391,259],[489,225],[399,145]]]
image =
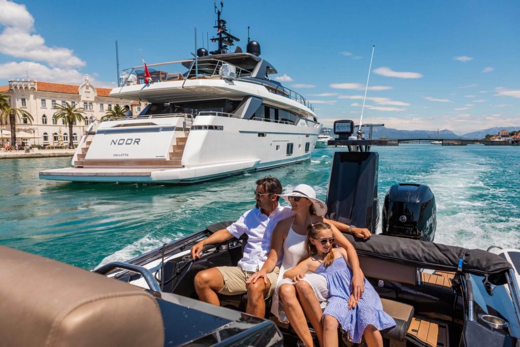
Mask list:
[[[316,331],[320,344],[323,345],[323,328],[321,325],[321,306],[319,301],[323,302],[328,297],[327,281],[321,275],[307,274],[301,276],[301,280],[295,283],[290,279],[284,279],[283,273],[296,266],[306,254],[307,226],[326,221],[332,225],[332,233],[336,238],[336,243],[348,253],[354,274],[352,292],[356,298],[360,298],[363,292],[364,278],[359,268],[357,253],[352,244],[341,234],[336,226],[340,226],[342,229],[354,229],[353,232],[356,236],[364,238],[369,237],[370,232],[367,229],[351,228],[342,223],[323,219],[322,216],[327,213],[327,205],[323,201],[316,199],[316,192],[306,184],[297,185],[290,194],[280,195],[280,197],[289,201],[294,215],[277,224],[271,236],[271,249],[267,261],[260,271],[248,279],[247,283],[254,283],[258,278],[263,278],[264,281],[267,281],[267,274],[275,268],[278,260],[281,258],[280,255],[283,254],[271,312],[282,321],[284,320],[284,313],[298,337],[306,346],[312,346],[313,339],[305,319],[306,314],[310,324]],[[300,302],[296,298],[296,292]],[[280,311],[282,310],[280,310],[279,301],[281,301],[283,308],[281,315]]]

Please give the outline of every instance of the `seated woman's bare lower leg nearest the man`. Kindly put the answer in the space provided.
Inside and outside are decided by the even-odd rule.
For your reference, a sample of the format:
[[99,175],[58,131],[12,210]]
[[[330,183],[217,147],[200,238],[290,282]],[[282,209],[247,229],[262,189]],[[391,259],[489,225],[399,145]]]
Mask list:
[[296,288],[294,288],[294,285],[286,283],[278,288],[278,293],[289,323],[303,343],[307,347],[311,347],[313,345],[313,337],[310,335],[302,306],[296,299]]

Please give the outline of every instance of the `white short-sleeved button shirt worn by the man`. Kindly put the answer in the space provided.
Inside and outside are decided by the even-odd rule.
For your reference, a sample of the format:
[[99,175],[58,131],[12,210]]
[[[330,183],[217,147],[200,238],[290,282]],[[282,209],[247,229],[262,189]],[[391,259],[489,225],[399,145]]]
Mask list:
[[292,215],[290,207],[278,204],[268,216],[262,213],[262,209],[255,208],[245,212],[238,221],[228,226],[229,234],[236,238],[244,233],[248,235],[244,255],[237,265],[244,271],[256,272],[261,269],[271,249],[271,235],[276,224]]

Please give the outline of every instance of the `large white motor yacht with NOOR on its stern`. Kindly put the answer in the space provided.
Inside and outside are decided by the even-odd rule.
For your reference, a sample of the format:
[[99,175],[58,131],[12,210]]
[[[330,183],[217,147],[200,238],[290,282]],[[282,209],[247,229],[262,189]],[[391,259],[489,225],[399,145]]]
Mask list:
[[[300,94],[271,80],[260,46],[237,47],[218,11],[218,49],[126,70],[110,96],[148,103],[136,117],[91,124],[59,181],[195,183],[302,162],[321,124]],[[144,69],[144,70],[143,70]],[[151,81],[150,81],[151,79]]]

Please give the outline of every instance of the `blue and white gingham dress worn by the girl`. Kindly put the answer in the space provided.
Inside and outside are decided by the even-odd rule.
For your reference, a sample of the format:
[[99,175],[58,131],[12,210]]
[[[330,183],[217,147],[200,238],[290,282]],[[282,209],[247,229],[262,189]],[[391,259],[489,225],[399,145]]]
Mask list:
[[[341,259],[340,259],[341,258]],[[383,311],[383,305],[374,287],[365,278],[365,291],[354,309],[348,310],[348,298],[350,297],[350,281],[352,270],[341,256],[334,259],[329,267],[323,264],[315,271],[327,279],[329,287],[329,300],[323,311],[325,315],[331,315],[337,319],[341,328],[348,333],[348,337],[354,343],[361,342],[365,328],[372,324],[378,330],[395,326],[395,320]]]

